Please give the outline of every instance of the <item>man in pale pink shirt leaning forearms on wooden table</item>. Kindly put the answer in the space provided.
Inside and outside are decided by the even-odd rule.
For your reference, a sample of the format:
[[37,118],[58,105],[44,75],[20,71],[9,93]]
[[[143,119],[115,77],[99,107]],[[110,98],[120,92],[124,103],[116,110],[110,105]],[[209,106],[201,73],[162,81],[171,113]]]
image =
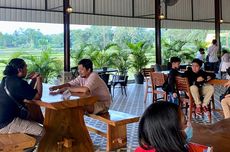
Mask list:
[[[93,72],[93,63],[90,59],[82,59],[78,63],[79,76],[74,80],[50,87],[50,91],[58,90],[58,93],[63,93],[65,90],[70,92],[90,93],[92,96],[99,98],[93,106],[87,106],[88,113],[105,113],[108,111],[111,104],[111,96],[105,82]],[[51,92],[52,93],[52,92]]]

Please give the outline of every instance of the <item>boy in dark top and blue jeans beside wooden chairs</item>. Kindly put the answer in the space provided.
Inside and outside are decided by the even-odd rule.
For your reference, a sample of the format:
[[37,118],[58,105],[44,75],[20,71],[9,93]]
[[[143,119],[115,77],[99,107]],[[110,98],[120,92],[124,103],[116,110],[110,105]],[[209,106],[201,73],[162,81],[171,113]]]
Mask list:
[[180,67],[180,58],[178,57],[171,57],[170,63],[171,63],[171,70],[168,74],[168,94],[169,94],[169,101],[175,104],[179,104],[179,100],[177,97],[177,92],[176,92],[176,80],[175,77],[177,75],[180,75],[178,72],[178,69]]

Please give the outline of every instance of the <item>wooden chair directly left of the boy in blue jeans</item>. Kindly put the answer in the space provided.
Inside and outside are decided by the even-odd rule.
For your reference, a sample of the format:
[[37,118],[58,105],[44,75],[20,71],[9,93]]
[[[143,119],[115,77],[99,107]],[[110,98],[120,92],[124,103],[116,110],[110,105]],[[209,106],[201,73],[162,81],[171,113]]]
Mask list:
[[[153,94],[153,102],[164,99],[164,101],[167,101],[167,92],[162,90],[162,86],[167,80],[167,76],[164,73],[159,72],[150,72],[150,78],[152,82],[152,94]],[[157,95],[163,96],[163,98],[157,98]]]

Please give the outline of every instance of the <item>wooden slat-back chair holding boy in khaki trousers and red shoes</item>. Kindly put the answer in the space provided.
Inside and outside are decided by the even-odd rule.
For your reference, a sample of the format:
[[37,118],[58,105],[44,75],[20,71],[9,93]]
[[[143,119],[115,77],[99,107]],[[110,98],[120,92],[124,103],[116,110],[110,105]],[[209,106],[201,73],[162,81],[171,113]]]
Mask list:
[[[185,109],[185,114],[188,115],[188,108],[189,108],[189,115],[188,119],[192,119],[192,113],[195,114],[195,102],[192,97],[191,91],[190,91],[190,85],[187,77],[180,77],[176,76],[176,88],[177,88],[177,94],[180,102],[180,106],[182,109]],[[180,92],[183,92],[183,95],[181,95]],[[214,100],[213,97],[211,100]],[[211,102],[210,102],[211,103]],[[211,122],[211,104],[208,104],[208,111],[209,111],[209,121]]]

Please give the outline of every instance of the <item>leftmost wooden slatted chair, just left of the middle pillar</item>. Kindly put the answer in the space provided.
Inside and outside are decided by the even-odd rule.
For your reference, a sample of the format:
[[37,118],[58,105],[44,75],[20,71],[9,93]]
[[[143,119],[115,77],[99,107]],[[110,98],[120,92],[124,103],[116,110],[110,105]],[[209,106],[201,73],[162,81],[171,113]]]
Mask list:
[[149,89],[152,89],[152,84],[150,82],[150,72],[154,72],[154,68],[144,68],[142,69],[142,74],[145,79],[145,95],[144,95],[144,102],[146,102],[148,93],[152,93],[152,90],[149,91]]

